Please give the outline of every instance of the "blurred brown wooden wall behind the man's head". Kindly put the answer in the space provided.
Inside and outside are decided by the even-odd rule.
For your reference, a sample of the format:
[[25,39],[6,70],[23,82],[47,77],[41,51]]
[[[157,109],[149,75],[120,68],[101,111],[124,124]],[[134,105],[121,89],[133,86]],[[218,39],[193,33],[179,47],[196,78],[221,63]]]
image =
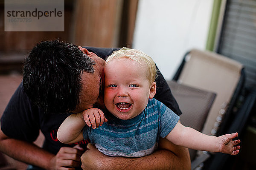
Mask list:
[[21,72],[28,52],[44,40],[131,47],[138,1],[64,0],[64,31],[4,31],[4,0],[0,0],[0,74]]

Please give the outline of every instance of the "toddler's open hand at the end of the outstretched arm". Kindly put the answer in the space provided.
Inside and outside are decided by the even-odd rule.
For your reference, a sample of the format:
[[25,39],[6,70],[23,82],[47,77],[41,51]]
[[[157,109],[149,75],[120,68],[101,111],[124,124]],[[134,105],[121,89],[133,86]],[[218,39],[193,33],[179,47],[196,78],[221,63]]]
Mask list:
[[240,140],[233,141],[238,136],[238,133],[231,133],[227,135],[219,136],[220,152],[228,153],[230,155],[237,155],[239,153],[240,146],[235,146],[240,143]]

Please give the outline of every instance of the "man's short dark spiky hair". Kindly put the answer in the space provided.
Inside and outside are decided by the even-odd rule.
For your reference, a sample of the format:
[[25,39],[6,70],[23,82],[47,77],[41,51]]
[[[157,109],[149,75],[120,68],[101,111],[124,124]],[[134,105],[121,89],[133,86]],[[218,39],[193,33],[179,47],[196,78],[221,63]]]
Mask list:
[[24,91],[45,112],[72,111],[80,102],[81,74],[93,73],[94,64],[76,45],[59,40],[39,42],[24,61]]

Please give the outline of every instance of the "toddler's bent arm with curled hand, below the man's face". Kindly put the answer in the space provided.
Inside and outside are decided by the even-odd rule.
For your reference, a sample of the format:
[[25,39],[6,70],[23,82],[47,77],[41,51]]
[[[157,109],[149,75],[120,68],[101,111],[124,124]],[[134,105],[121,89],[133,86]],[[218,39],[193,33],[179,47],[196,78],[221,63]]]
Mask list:
[[62,122],[57,132],[57,138],[62,143],[79,142],[83,140],[85,125],[92,126],[95,129],[107,121],[104,113],[97,108],[90,108],[81,113],[73,113]]

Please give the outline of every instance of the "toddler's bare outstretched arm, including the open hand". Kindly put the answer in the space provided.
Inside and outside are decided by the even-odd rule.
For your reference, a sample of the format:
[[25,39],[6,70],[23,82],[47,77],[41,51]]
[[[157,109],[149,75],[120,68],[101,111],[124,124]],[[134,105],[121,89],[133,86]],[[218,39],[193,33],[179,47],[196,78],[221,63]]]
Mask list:
[[166,139],[174,144],[195,150],[236,155],[239,153],[240,146],[235,145],[239,144],[240,140],[233,139],[237,136],[238,133],[226,134],[219,137],[208,136],[191,127],[185,127],[178,122],[173,130],[166,136]]

